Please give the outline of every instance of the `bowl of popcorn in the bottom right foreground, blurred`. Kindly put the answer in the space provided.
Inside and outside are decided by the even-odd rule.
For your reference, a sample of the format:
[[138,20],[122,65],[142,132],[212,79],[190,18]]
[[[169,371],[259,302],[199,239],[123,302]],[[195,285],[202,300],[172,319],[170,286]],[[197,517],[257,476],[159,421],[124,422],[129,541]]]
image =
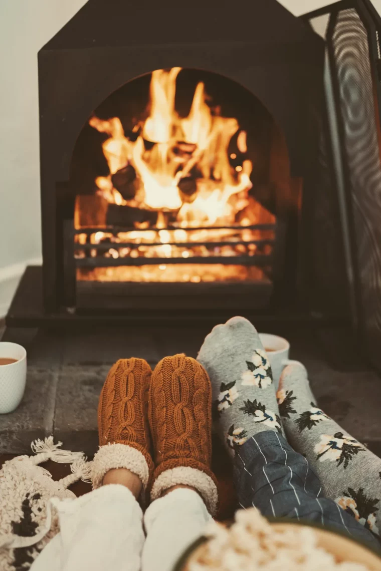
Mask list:
[[342,534],[300,522],[270,522],[255,508],[231,526],[211,521],[175,571],[381,571],[381,558]]

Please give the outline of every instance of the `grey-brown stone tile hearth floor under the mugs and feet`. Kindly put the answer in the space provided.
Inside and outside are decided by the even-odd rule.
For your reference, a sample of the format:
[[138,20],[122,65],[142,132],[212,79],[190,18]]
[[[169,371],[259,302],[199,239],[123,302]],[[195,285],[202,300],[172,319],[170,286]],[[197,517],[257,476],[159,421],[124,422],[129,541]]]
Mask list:
[[[17,411],[0,415],[0,452],[27,453],[30,441],[51,433],[65,447],[93,455],[98,446],[99,392],[111,364],[121,357],[143,357],[152,367],[165,355],[184,351],[195,357],[205,327],[94,328],[74,333],[37,331],[26,343],[25,331],[6,329],[5,337],[17,341],[23,333],[28,352],[25,398]],[[342,427],[376,453],[381,453],[381,383],[362,357],[352,356],[352,370],[344,362],[347,337],[328,332],[337,357],[330,365],[319,335],[310,328],[270,327],[291,342],[291,357],[309,372],[318,403]],[[343,355],[340,361],[340,355]]]

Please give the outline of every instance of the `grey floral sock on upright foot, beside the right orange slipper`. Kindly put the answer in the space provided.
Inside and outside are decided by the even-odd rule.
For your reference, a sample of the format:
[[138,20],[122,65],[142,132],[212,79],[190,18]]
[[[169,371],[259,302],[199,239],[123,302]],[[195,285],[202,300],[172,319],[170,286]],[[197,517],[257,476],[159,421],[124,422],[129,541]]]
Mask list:
[[197,360],[210,377],[216,428],[232,455],[260,431],[282,434],[270,363],[250,321],[216,325]]

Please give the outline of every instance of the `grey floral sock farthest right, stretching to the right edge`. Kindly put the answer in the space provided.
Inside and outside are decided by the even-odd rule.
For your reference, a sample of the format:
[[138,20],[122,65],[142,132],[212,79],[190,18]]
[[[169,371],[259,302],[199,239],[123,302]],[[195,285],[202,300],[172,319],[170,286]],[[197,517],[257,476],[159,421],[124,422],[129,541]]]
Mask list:
[[379,535],[381,460],[318,407],[302,364],[284,369],[276,397],[287,440],[318,475],[324,496]]

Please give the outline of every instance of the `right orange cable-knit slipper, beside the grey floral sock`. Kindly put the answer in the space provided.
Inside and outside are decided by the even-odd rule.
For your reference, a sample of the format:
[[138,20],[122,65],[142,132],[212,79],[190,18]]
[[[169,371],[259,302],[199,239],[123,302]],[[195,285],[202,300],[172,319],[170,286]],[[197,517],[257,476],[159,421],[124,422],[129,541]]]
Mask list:
[[155,450],[151,500],[177,484],[195,488],[210,513],[217,505],[211,463],[212,392],[205,369],[191,357],[165,357],[151,377],[149,421]]

